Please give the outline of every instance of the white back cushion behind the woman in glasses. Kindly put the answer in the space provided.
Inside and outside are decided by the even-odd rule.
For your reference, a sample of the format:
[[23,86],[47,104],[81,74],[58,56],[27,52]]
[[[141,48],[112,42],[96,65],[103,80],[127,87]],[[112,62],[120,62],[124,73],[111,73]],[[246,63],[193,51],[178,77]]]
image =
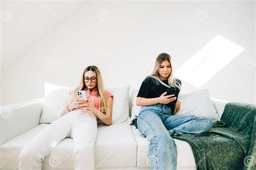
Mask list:
[[[51,86],[52,85],[52,86]],[[45,83],[45,102],[40,123],[52,123],[60,117],[73,88]],[[112,124],[127,121],[129,118],[130,86],[106,89],[114,95],[112,107]]]

